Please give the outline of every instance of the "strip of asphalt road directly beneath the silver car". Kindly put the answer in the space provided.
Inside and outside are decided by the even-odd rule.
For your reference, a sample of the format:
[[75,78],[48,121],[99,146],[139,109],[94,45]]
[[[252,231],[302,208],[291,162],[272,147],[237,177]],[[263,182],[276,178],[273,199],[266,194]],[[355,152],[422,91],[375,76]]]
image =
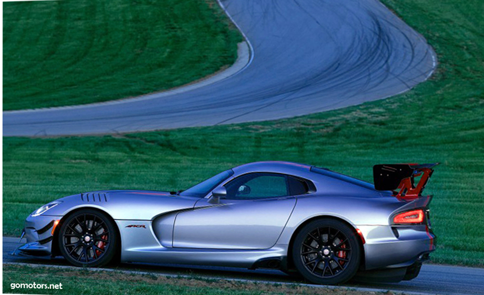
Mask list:
[[[28,263],[45,266],[67,266],[62,258],[52,260],[32,259],[11,256],[16,247],[22,245],[18,238],[3,237],[3,263]],[[25,240],[23,240],[25,242]],[[196,277],[210,277],[236,279],[247,281],[266,281],[272,283],[305,284],[301,279],[289,277],[274,270],[250,271],[240,268],[178,266],[178,265],[147,265],[122,264],[117,270],[129,272],[148,272],[160,275],[177,276],[190,275]],[[362,288],[362,291],[398,291],[406,294],[442,294],[442,295],[475,295],[484,294],[484,269],[454,266],[424,265],[420,275],[412,281],[392,284],[362,284],[350,282],[346,287]],[[371,290],[368,290],[371,289]]]

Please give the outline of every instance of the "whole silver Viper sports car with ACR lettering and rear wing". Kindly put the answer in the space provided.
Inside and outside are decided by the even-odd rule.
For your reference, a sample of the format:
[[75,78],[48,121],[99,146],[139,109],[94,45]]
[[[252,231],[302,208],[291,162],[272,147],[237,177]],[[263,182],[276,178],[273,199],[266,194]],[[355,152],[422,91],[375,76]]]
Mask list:
[[374,184],[326,168],[256,162],[179,192],[105,190],[50,202],[25,220],[14,255],[75,266],[166,263],[298,272],[317,284],[355,275],[415,278],[435,250],[436,164],[373,167]]

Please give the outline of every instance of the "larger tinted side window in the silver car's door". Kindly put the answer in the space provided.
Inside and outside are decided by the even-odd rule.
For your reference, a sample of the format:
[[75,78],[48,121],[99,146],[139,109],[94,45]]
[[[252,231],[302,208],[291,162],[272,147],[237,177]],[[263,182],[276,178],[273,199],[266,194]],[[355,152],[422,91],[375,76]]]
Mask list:
[[225,185],[227,199],[263,199],[290,195],[287,176],[276,173],[249,173]]

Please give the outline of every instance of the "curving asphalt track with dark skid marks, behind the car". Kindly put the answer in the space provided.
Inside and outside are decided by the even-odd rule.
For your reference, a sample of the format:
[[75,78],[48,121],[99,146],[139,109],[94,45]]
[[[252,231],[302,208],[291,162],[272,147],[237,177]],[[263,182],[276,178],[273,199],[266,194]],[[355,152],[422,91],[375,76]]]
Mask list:
[[426,80],[426,40],[377,0],[222,0],[250,57],[173,95],[3,112],[3,136],[121,133],[273,120],[386,98]]

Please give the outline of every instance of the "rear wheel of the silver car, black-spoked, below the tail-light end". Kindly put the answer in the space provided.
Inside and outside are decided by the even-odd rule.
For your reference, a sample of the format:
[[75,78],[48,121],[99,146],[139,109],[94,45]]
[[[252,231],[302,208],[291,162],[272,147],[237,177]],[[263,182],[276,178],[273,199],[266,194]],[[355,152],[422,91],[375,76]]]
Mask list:
[[355,232],[341,221],[325,218],[309,222],[295,237],[294,265],[312,283],[344,283],[354,277],[360,265],[357,239]]

